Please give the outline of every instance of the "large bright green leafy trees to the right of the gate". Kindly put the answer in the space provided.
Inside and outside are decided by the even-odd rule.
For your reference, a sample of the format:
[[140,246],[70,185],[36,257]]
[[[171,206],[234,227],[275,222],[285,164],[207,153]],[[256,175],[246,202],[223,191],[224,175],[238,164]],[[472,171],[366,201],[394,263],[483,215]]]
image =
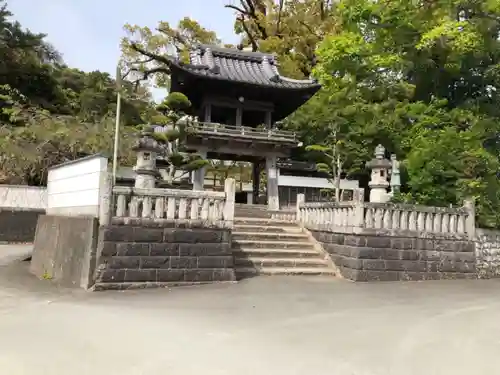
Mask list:
[[336,19],[341,28],[317,50],[324,90],[297,118],[327,102],[348,124],[351,175],[382,143],[406,159],[407,199],[447,205],[472,195],[481,224],[498,226],[500,2],[343,0]]

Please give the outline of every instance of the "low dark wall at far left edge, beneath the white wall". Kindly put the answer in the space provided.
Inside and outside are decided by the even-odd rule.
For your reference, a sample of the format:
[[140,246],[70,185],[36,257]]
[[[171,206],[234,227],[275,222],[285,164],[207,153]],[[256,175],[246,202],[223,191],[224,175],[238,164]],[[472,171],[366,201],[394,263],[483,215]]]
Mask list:
[[38,217],[45,210],[0,207],[0,242],[33,242]]

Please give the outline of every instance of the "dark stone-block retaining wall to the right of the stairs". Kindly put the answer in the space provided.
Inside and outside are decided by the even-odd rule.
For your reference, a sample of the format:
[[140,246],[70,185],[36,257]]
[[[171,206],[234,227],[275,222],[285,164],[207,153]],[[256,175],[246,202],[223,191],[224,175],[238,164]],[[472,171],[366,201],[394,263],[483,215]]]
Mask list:
[[343,277],[353,281],[474,279],[473,241],[422,233],[339,234],[312,231]]

